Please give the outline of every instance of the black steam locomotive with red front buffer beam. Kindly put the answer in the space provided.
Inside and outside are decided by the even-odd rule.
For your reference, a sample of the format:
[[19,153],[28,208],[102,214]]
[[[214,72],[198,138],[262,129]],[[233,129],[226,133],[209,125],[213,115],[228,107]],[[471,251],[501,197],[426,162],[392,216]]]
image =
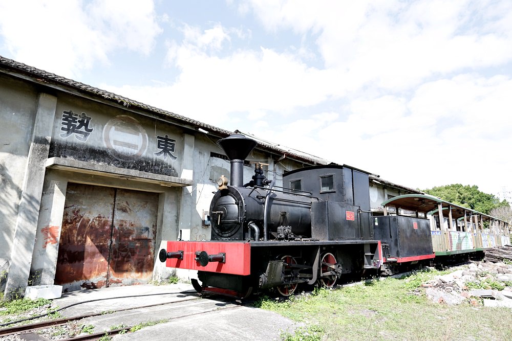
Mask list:
[[[312,166],[285,173],[287,187],[278,187],[257,165],[243,184],[244,159],[256,142],[233,134],[218,144],[230,160],[231,181],[222,176],[211,200],[211,240],[168,241],[159,253],[167,267],[198,270],[197,291],[246,297],[276,288],[287,296],[301,283],[332,287],[344,275],[396,261],[393,243],[382,254],[381,240],[392,229],[388,218],[378,223],[371,216],[369,173]],[[419,226],[415,238],[426,240],[419,254],[434,257],[430,226]]]

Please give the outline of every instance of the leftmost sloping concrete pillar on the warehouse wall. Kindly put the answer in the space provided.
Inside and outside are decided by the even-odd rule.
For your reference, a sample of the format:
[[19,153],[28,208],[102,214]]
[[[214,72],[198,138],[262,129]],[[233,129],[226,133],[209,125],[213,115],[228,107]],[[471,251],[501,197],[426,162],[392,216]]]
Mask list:
[[55,96],[39,95],[5,289],[5,298],[8,300],[22,297],[29,279],[45,179],[45,162],[50,150],[56,107]]

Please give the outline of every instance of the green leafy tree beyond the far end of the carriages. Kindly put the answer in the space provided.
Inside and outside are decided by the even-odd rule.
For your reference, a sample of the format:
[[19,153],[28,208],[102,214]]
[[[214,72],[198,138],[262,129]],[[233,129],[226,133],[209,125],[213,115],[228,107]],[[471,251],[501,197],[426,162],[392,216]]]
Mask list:
[[426,189],[423,192],[485,214],[490,214],[491,210],[499,207],[510,207],[506,200],[500,202],[494,194],[481,192],[476,185],[453,184]]

